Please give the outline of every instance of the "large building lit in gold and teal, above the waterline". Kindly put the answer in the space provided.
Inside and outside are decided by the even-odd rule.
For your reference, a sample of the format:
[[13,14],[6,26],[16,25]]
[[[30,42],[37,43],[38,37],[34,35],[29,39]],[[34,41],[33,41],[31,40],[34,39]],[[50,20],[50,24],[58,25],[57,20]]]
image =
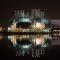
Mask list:
[[11,23],[12,32],[43,32],[43,29],[49,29],[49,20],[45,17],[45,12],[40,9],[25,12],[24,10],[15,11],[15,18]]

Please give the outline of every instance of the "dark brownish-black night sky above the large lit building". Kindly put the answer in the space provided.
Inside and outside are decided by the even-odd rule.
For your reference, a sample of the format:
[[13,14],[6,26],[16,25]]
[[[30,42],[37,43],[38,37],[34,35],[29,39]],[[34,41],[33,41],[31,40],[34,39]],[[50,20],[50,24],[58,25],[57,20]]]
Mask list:
[[33,8],[40,8],[43,11],[47,11],[49,19],[60,19],[60,1],[51,0],[2,0],[0,1],[0,18],[7,22],[7,20],[13,16],[14,10]]

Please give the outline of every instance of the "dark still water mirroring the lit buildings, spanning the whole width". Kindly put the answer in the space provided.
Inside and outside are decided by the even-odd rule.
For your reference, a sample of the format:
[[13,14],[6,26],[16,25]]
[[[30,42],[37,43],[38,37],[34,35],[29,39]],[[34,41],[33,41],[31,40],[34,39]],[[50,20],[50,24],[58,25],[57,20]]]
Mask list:
[[[56,56],[59,54],[60,40],[51,40],[51,46],[44,45],[45,39],[52,39],[49,34],[35,34],[35,35],[0,35],[0,54],[5,56],[30,56],[30,57],[44,57]],[[21,44],[17,43],[17,40],[21,43],[22,40],[29,41],[31,44],[30,49],[21,49]],[[22,43],[29,44],[29,43]],[[48,47],[49,46],[49,47]],[[57,49],[56,49],[57,48]],[[58,51],[58,52],[57,52]]]

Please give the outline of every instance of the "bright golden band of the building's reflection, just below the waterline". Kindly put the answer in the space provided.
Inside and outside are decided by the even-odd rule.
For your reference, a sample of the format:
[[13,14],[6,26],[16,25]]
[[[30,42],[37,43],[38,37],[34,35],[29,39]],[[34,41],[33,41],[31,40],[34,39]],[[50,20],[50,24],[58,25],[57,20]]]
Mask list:
[[13,42],[13,44],[17,44],[17,40],[19,39],[20,41],[25,39],[25,40],[30,40],[31,43],[39,45],[39,44],[44,44],[45,39],[49,39],[50,36],[49,34],[47,35],[8,35],[8,39]]

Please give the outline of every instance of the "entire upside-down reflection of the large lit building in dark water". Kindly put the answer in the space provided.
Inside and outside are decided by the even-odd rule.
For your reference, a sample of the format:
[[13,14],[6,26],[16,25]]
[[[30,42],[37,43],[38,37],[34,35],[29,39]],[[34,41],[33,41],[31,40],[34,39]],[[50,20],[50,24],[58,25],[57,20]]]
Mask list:
[[[7,39],[13,43],[18,56],[24,54],[32,54],[32,56],[40,56],[44,54],[44,49],[48,46],[48,40],[51,39],[49,34],[36,35],[0,35],[0,39]],[[18,43],[18,41],[20,43]]]

